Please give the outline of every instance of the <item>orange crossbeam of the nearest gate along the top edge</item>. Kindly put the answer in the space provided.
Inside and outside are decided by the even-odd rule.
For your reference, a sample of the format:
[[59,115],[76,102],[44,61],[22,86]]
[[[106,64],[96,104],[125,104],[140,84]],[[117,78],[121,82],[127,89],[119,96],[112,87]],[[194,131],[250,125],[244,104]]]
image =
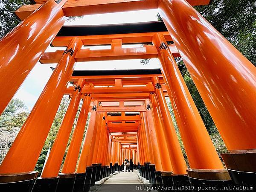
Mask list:
[[[37,0],[44,3],[44,0]],[[192,6],[207,5],[210,0],[187,0]],[[65,16],[157,9],[158,0],[69,0],[62,7]],[[21,6],[15,14],[24,20],[42,4]]]

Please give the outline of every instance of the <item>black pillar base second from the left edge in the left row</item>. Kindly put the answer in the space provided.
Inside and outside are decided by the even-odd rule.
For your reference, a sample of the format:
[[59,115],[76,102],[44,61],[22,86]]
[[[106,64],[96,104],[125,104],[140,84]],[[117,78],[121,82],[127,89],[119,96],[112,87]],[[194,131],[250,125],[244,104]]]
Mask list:
[[56,178],[42,178],[38,177],[35,180],[32,192],[56,192],[59,177]]

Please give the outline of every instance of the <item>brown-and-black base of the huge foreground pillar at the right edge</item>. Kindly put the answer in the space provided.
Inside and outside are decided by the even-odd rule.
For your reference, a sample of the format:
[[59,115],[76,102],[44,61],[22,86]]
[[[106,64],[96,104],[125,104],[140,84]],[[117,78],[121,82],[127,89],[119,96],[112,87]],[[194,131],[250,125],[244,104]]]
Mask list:
[[234,150],[221,154],[232,181],[239,186],[255,185],[256,150]]

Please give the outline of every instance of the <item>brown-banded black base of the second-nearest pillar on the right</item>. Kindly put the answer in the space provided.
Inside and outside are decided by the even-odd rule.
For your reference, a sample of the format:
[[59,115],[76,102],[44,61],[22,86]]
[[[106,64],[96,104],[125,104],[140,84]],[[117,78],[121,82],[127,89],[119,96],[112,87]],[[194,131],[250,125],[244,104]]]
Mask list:
[[233,186],[227,169],[187,169],[187,173],[190,184],[196,189],[200,186]]

